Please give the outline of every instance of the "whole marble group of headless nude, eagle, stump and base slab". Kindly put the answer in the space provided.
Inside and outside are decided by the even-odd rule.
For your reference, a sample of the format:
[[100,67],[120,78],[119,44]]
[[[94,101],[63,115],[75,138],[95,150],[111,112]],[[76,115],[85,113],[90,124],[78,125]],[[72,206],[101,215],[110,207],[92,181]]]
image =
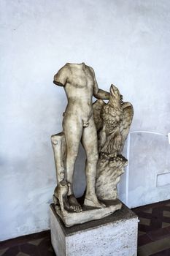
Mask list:
[[[63,86],[68,99],[63,132],[51,137],[58,181],[53,195],[55,210],[66,226],[106,217],[121,208],[116,201],[117,183],[127,165],[121,152],[133,117],[132,105],[123,102],[115,86],[110,92],[98,89],[95,73],[85,63],[67,63],[54,76],[53,83]],[[93,96],[98,99],[95,103]],[[83,204],[73,191],[80,142],[87,157]]]

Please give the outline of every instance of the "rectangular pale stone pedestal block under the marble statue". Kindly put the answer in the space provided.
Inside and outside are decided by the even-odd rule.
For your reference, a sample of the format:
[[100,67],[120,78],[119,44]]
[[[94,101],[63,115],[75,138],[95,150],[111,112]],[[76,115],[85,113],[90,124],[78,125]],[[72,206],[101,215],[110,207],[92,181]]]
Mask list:
[[104,219],[65,227],[50,205],[51,242],[57,256],[136,256],[138,217],[125,205]]

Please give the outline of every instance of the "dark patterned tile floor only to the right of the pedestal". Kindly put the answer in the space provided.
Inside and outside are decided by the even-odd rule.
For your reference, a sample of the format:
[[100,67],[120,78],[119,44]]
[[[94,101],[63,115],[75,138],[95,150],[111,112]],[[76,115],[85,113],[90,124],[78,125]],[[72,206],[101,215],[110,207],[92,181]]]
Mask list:
[[170,200],[133,211],[140,219],[138,256],[170,256]]

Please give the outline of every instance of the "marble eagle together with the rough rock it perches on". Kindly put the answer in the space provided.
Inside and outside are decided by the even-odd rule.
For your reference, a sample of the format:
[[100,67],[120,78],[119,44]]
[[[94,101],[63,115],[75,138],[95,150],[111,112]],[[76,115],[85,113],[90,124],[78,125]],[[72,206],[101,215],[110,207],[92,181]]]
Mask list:
[[128,160],[122,156],[125,139],[134,116],[133,106],[123,102],[116,86],[110,87],[109,102],[93,103],[93,118],[98,132],[96,195],[100,200],[117,200],[117,184]]

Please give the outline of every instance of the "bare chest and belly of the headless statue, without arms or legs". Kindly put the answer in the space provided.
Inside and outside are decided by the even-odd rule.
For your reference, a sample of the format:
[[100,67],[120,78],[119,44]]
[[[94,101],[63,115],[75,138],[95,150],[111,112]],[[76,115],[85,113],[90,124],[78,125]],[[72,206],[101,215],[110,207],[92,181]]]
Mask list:
[[85,64],[66,64],[69,77],[64,89],[68,98],[65,114],[88,121],[92,116],[93,73]]

